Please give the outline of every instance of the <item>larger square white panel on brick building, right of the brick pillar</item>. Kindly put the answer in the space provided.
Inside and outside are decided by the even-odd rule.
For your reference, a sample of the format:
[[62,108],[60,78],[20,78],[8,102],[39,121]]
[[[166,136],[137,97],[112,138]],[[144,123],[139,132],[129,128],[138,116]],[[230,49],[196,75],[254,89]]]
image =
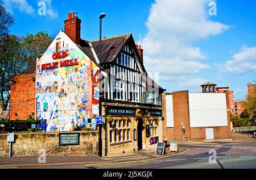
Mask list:
[[228,125],[225,93],[189,93],[190,127]]

